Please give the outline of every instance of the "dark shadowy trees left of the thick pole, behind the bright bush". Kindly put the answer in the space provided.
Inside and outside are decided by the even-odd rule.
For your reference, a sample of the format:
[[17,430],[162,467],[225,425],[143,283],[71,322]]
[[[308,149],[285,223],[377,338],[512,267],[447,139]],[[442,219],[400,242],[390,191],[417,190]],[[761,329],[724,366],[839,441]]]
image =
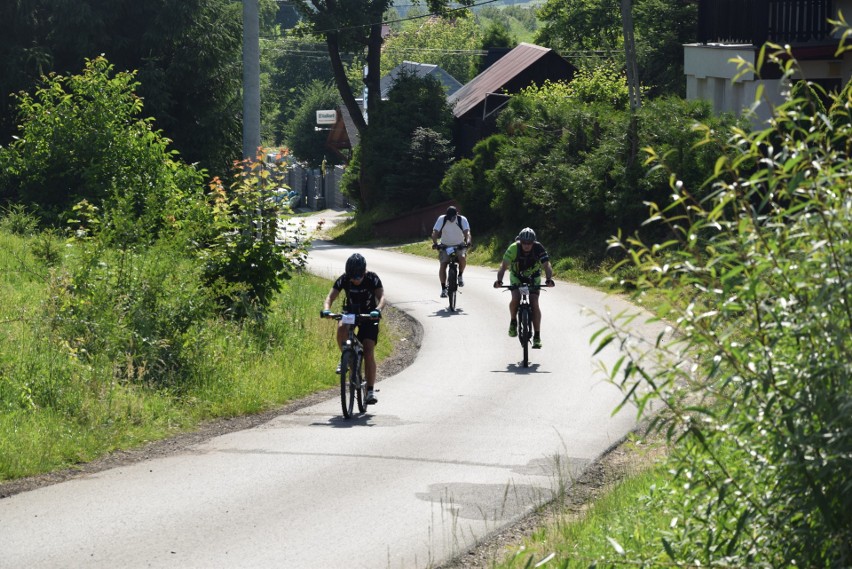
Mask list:
[[147,112],[188,161],[230,171],[241,140],[240,14],[232,0],[3,2],[0,140],[15,127],[8,93],[104,54],[138,71]]

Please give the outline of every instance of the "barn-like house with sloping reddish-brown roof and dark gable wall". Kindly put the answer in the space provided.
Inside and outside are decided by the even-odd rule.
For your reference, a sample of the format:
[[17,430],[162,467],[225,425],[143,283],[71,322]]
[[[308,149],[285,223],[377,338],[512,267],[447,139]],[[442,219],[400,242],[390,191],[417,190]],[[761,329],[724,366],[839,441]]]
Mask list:
[[576,68],[552,49],[521,43],[447,98],[453,108],[458,156],[496,130],[497,113],[512,95],[545,80],[570,81]]

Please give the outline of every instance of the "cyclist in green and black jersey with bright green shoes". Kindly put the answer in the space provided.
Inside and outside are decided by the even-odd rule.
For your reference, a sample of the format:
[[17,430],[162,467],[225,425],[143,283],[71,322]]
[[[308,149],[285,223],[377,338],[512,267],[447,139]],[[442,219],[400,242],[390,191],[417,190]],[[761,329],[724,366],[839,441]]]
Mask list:
[[[500,263],[500,268],[497,269],[497,280],[494,281],[494,288],[503,286],[503,274],[507,269],[509,272],[509,282],[511,284],[519,284],[527,282],[530,284],[541,284],[541,270],[544,269],[545,281],[544,284],[548,287],[556,286],[553,282],[553,267],[550,266],[550,257],[544,248],[544,245],[536,241],[535,231],[529,227],[524,227],[515,242],[509,245],[506,252],[503,254],[503,262]],[[533,309],[533,348],[541,348],[541,309],[538,305],[538,290],[530,290],[530,305]],[[512,300],[509,302],[509,336],[516,337],[518,335],[518,305],[521,302],[521,293],[515,289],[512,290]]]

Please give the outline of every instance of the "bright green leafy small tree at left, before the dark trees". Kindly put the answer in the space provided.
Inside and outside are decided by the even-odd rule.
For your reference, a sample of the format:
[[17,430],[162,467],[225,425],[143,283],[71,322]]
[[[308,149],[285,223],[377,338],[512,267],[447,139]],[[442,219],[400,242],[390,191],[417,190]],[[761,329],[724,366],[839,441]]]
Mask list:
[[142,119],[134,74],[104,58],[81,75],[51,76],[22,93],[19,137],[0,148],[0,198],[35,206],[48,221],[67,218],[85,200],[101,210],[110,240],[156,238],[182,203],[200,195],[201,175],[175,160],[169,141]]

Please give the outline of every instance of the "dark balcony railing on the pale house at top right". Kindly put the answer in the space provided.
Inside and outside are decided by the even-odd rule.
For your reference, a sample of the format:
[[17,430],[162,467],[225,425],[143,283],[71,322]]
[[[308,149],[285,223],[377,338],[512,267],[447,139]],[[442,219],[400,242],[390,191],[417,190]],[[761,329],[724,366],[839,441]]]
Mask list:
[[832,0],[699,0],[702,43],[802,44],[829,39]]

